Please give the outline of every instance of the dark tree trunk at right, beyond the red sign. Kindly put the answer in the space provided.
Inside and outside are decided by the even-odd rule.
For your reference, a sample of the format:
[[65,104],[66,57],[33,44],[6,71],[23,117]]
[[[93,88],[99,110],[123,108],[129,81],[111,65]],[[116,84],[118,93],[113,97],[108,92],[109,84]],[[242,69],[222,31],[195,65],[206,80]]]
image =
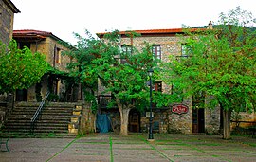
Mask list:
[[230,139],[230,117],[231,112],[229,110],[223,110],[223,139]]

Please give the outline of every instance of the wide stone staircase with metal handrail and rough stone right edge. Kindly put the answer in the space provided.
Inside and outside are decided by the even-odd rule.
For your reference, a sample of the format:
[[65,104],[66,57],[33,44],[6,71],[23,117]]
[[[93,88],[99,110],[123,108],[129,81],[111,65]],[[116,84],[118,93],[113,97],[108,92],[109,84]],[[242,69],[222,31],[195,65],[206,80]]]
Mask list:
[[[75,103],[46,103],[31,134],[31,118],[39,103],[18,102],[4,123],[2,135],[75,137],[82,112],[82,106]],[[78,107],[78,108],[77,108]]]

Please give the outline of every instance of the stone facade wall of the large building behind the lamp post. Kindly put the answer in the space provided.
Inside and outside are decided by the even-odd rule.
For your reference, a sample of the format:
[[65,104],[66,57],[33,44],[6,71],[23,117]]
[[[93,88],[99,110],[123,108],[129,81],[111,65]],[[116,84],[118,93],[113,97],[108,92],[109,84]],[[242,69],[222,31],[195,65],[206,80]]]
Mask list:
[[[133,45],[137,49],[144,46],[144,42],[152,45],[161,45],[161,60],[169,62],[170,56],[181,56],[182,41],[180,37],[174,35],[154,36],[154,37],[136,37],[132,40]],[[131,38],[122,37],[121,45],[131,45]],[[171,88],[162,82],[163,93],[170,93]],[[158,126],[159,133],[183,133],[192,134],[192,99],[183,102],[189,107],[187,114],[174,114],[169,109],[156,110],[154,112],[153,123]],[[214,110],[205,110],[205,131],[207,133],[218,133],[220,128],[220,112],[216,108]],[[149,128],[149,117],[141,116],[140,130],[147,132]]]

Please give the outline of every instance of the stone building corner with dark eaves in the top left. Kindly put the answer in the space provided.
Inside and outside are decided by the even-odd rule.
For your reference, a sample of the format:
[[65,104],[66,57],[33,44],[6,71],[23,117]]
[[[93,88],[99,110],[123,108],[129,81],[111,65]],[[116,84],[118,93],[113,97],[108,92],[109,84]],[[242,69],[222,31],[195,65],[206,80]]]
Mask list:
[[10,0],[0,1],[0,40],[6,45],[12,38],[14,13],[19,12]]

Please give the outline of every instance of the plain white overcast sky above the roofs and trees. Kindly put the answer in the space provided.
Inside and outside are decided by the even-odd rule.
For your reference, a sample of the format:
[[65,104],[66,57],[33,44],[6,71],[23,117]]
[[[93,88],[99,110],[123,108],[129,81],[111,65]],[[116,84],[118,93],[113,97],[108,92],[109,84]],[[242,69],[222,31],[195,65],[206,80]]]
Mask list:
[[52,32],[76,45],[73,33],[206,26],[240,6],[256,16],[256,0],[11,0],[21,11],[14,29]]

